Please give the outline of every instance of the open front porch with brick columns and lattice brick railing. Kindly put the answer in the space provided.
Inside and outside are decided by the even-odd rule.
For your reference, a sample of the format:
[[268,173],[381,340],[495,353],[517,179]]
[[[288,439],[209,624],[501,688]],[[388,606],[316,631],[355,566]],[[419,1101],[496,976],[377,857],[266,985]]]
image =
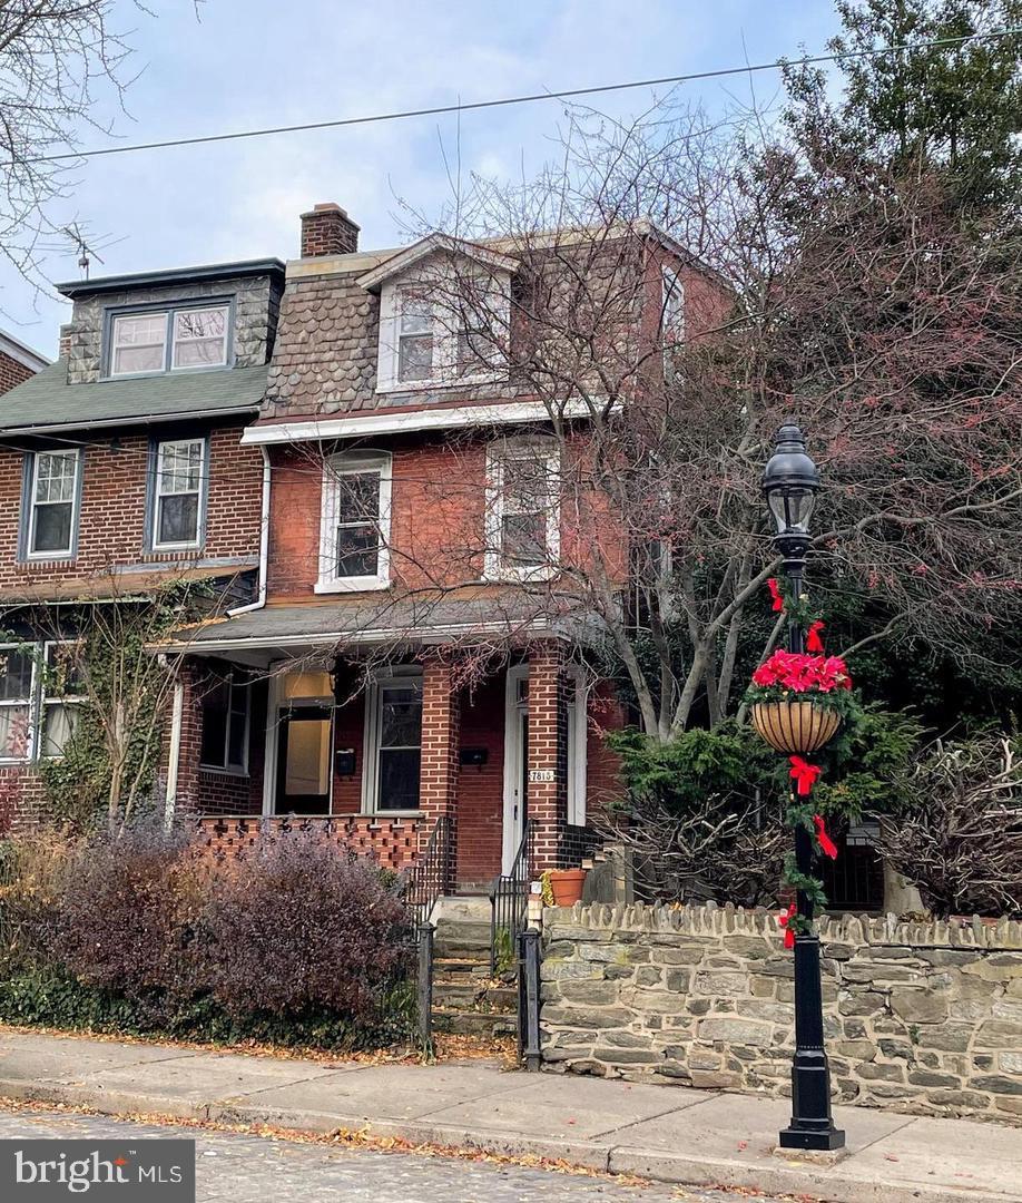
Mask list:
[[510,870],[527,818],[533,873],[595,846],[614,772],[601,729],[619,709],[565,642],[531,641],[471,685],[453,648],[372,670],[303,651],[180,660],[168,810],[198,816],[215,854],[311,826],[404,870],[436,831],[444,893],[479,893]]

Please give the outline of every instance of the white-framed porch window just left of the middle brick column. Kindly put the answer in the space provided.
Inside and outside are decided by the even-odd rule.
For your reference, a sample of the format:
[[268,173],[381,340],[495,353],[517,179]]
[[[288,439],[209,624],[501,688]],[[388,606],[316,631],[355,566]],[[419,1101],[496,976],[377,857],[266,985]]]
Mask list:
[[362,810],[418,810],[422,771],[422,674],[396,669],[366,689]]

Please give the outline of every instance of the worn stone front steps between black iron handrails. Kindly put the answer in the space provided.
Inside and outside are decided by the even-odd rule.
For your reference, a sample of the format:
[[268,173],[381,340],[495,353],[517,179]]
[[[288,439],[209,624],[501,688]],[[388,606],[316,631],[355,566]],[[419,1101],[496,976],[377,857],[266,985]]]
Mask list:
[[440,899],[433,923],[434,1031],[513,1036],[518,991],[489,973],[489,899]]

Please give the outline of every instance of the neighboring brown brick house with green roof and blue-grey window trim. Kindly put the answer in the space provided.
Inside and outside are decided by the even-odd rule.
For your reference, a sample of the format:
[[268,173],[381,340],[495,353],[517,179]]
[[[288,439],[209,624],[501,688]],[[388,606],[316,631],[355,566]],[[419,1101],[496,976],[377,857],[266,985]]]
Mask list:
[[262,457],[239,440],[283,288],[278,260],[61,285],[60,357],[0,397],[4,826],[40,813],[38,765],[75,729],[81,698],[52,670],[90,608],[168,581],[254,595]]

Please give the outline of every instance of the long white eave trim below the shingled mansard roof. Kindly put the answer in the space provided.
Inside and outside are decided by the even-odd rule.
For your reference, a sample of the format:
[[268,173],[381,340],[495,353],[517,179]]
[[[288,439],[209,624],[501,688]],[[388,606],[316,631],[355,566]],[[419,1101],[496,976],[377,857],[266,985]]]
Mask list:
[[[617,408],[617,407],[614,407]],[[246,426],[242,445],[259,443],[302,443],[319,439],[352,439],[364,434],[400,434],[404,431],[446,431],[465,426],[504,426],[511,422],[552,422],[592,417],[593,404],[574,397],[553,410],[542,401],[504,401],[486,405],[450,405],[415,409],[402,414],[374,413],[361,417],[331,417],[323,421],[280,422]]]

